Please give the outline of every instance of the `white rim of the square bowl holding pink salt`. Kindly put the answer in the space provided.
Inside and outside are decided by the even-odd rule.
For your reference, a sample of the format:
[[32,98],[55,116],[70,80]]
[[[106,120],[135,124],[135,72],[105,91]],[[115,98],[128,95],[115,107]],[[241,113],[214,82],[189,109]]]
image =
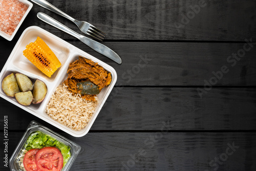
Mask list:
[[[4,1],[8,1],[8,0],[4,0]],[[15,28],[14,32],[12,33],[12,35],[8,35],[5,32],[0,30],[0,36],[4,37],[5,39],[11,41],[13,39],[13,37],[15,36],[15,34],[17,33],[20,25],[22,25],[24,19],[26,18],[26,16],[28,15],[29,11],[31,10],[31,8],[33,7],[33,4],[27,0],[18,0],[19,2],[22,2],[23,4],[28,6],[27,11],[25,12],[25,14],[23,15],[22,19],[20,20],[20,22],[18,23],[17,27]]]

